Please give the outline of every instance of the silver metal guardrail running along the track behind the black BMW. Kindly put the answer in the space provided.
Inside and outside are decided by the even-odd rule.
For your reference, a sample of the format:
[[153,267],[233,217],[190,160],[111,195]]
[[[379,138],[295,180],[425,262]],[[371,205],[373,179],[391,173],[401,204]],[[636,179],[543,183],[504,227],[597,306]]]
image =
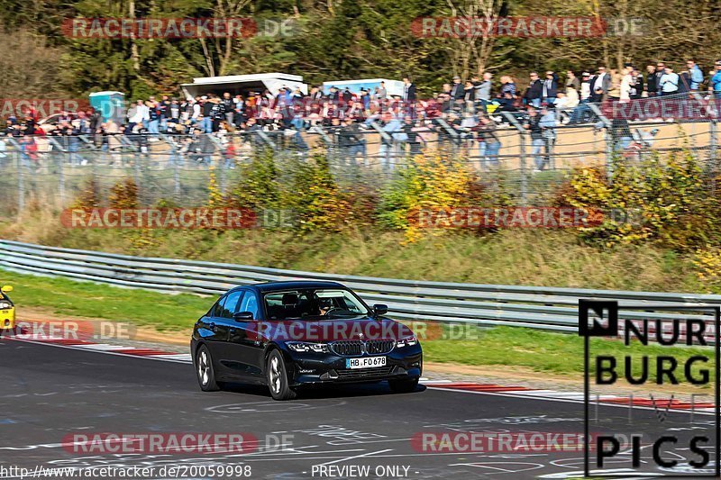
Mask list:
[[[368,303],[388,303],[390,316],[399,320],[512,325],[553,331],[578,331],[580,298],[616,299],[641,307],[721,304],[721,295],[416,282],[174,258],[131,257],[10,240],[0,240],[0,267],[21,273],[196,294],[220,294],[235,285],[276,280],[335,280],[354,289]],[[698,316],[674,312],[624,313],[625,318],[650,320]]]

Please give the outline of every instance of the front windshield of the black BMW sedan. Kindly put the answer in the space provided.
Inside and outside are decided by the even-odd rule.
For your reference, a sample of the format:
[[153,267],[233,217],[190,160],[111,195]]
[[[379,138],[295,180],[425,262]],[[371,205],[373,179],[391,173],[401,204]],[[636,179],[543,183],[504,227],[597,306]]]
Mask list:
[[351,318],[368,309],[354,294],[340,288],[285,290],[263,296],[269,320]]

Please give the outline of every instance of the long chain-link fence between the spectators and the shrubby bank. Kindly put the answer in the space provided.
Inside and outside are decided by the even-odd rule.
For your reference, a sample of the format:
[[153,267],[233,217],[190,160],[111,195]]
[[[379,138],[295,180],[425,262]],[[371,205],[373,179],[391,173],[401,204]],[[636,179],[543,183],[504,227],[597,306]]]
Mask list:
[[141,205],[165,200],[178,206],[205,204],[211,172],[219,189],[238,183],[242,164],[271,151],[279,171],[291,158],[324,151],[341,185],[382,188],[416,154],[443,151],[469,163],[521,202],[552,190],[563,172],[610,166],[614,157],[635,161],[652,151],[688,149],[716,172],[716,122],[598,122],[530,131],[513,115],[493,135],[476,125],[443,120],[405,127],[380,122],[307,131],[236,131],[193,135],[26,136],[0,140],[0,195],[5,213],[29,202],[67,207],[94,178],[100,191],[131,177]]

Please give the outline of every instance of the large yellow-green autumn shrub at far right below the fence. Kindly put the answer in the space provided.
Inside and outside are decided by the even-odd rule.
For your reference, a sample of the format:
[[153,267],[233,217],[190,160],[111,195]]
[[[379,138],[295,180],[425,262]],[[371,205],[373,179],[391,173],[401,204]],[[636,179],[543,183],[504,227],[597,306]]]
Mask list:
[[580,229],[580,237],[610,247],[652,241],[677,250],[718,242],[718,202],[689,152],[631,163],[616,160],[613,173],[579,168],[562,186],[557,203],[598,210],[602,221]]

